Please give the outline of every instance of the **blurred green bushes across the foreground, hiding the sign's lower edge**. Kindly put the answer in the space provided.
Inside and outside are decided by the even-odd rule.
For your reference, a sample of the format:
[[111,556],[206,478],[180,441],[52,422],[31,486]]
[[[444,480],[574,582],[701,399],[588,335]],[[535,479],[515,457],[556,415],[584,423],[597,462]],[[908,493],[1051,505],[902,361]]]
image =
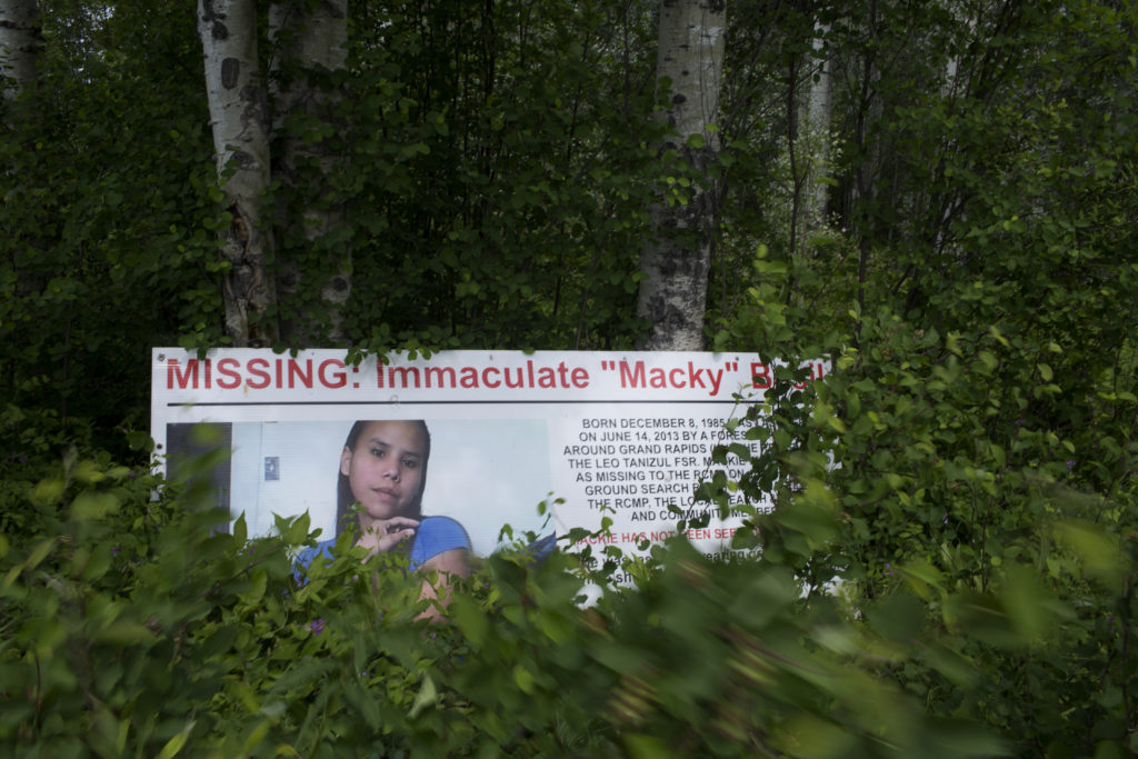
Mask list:
[[[616,588],[616,555],[497,554],[434,626],[417,621],[420,580],[396,566],[320,560],[298,585],[289,555],[312,541],[304,518],[250,541],[241,521],[218,531],[228,515],[192,487],[155,500],[154,478],[106,460],[25,462],[5,494],[25,521],[6,522],[0,543],[0,745],[163,757],[1127,746],[1132,533],[1063,518],[1086,505],[1067,495],[1001,542],[984,583],[912,536],[896,563],[856,566],[861,530],[822,482],[843,470],[806,457],[801,487],[762,523],[758,560],[709,562],[679,538]],[[1037,501],[1053,487],[1023,485]],[[1028,551],[1047,538],[1046,556]],[[819,571],[852,579],[803,593]],[[602,588],[591,605],[586,586]]]

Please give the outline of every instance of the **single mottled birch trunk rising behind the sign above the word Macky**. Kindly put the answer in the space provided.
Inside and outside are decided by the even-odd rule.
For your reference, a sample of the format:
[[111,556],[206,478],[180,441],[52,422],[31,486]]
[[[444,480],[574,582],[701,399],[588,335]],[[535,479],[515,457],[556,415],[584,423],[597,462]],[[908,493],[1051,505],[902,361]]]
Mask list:
[[723,73],[724,0],[662,0],[657,76],[671,83],[662,112],[671,134],[661,155],[683,156],[695,175],[686,205],[651,208],[652,233],[641,249],[637,314],[648,320],[644,350],[700,350],[707,308],[714,206],[711,165],[717,133],[709,130],[719,107]]

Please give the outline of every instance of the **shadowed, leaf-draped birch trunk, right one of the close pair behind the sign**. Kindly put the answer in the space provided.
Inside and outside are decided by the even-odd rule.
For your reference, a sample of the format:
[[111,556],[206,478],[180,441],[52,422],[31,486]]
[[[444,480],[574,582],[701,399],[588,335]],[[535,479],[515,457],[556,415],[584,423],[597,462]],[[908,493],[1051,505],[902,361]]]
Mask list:
[[[278,291],[282,337],[294,345],[344,345],[352,294],[352,247],[333,174],[343,165],[336,108],[343,90],[330,77],[347,65],[347,0],[275,2],[269,8],[273,56],[273,178],[278,206]],[[289,129],[290,119],[330,130]],[[304,174],[304,182],[299,175]],[[303,189],[302,189],[303,188]],[[319,300],[305,297],[319,288]],[[295,304],[319,303],[305,308]]]

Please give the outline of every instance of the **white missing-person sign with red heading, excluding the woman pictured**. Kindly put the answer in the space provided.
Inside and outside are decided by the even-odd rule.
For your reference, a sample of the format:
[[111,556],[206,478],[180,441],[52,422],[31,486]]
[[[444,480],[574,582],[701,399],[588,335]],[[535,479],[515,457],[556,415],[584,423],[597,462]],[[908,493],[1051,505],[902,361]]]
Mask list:
[[[757,443],[725,430],[761,403],[773,366],[754,354],[444,352],[348,365],[343,350],[295,357],[262,349],[181,348],[152,354],[151,430],[159,457],[209,422],[232,448],[217,493],[253,535],[273,514],[308,512],[335,534],[337,482],[348,432],[361,420],[423,420],[429,473],[423,515],[450,517],[486,555],[503,525],[516,534],[596,530],[630,552],[667,537],[677,517],[707,510],[693,494],[716,469],[716,445]],[[826,372],[814,362],[815,378]],[[737,478],[742,462],[726,467]],[[553,498],[563,503],[553,508]],[[551,505],[552,519],[537,504]],[[761,504],[757,504],[761,508]],[[739,518],[688,530],[706,553],[727,548]]]

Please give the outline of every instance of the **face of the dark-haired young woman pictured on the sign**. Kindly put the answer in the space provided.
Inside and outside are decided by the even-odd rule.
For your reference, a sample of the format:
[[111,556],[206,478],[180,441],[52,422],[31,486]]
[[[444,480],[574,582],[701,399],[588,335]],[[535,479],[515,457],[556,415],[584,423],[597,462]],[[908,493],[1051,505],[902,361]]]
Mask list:
[[427,439],[422,427],[411,422],[368,422],[355,449],[344,447],[340,472],[363,506],[365,528],[377,519],[411,513],[422,493],[426,464]]

